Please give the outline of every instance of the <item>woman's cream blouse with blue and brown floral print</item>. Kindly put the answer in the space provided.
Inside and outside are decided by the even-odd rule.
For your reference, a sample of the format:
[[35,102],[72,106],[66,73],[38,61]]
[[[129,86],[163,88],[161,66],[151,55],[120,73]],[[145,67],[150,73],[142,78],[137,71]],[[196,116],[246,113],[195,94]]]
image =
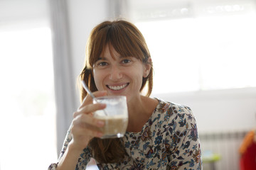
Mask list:
[[[60,157],[71,139],[69,130]],[[96,160],[99,169],[203,169],[196,119],[187,106],[159,100],[142,131],[126,132],[122,140],[129,156],[116,164]],[[85,148],[76,169],[86,169],[91,157],[90,149]],[[51,164],[48,170],[55,170],[57,165]]]

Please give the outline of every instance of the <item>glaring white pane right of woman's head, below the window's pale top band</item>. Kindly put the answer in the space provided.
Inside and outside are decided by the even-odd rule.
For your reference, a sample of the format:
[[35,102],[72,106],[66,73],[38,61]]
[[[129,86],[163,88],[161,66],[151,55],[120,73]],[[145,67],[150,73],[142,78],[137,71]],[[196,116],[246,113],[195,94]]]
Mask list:
[[255,13],[136,23],[154,64],[152,94],[256,86]]

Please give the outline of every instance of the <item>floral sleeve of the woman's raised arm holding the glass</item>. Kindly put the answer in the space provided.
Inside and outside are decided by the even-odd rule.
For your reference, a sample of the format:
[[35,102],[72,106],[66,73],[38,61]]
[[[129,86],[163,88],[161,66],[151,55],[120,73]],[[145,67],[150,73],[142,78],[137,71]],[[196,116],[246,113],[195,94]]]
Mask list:
[[[60,158],[63,157],[63,154],[65,153],[66,149],[68,148],[68,144],[72,140],[72,134],[70,132],[70,129],[71,129],[71,126],[70,126],[70,128],[67,132],[67,135],[65,136],[65,140],[64,140],[64,143],[63,143],[63,148],[61,149],[60,156],[58,158],[58,162],[60,161]],[[75,169],[76,170],[85,169],[86,165],[90,161],[90,158],[91,158],[90,149],[85,148],[83,150],[82,154],[80,154],[80,157],[78,158],[78,164],[76,165]],[[50,164],[50,166],[48,167],[48,170],[56,170],[57,166],[58,166],[58,162]]]

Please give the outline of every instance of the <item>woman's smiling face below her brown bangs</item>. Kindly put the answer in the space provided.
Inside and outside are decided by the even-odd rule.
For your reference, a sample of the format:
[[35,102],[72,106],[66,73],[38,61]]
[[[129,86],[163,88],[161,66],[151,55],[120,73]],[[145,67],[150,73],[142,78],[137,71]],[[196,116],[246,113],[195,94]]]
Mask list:
[[139,97],[142,78],[147,77],[149,70],[149,64],[142,64],[135,57],[122,57],[107,45],[105,54],[100,55],[93,65],[93,76],[99,91],[105,90],[109,96],[127,96],[127,101],[130,101]]

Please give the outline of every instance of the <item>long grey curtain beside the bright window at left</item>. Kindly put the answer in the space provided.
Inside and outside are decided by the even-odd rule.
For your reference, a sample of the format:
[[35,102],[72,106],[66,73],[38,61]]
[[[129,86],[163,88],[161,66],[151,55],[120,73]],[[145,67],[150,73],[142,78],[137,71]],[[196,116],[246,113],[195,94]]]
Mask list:
[[70,50],[67,1],[49,0],[53,38],[53,68],[58,153],[76,111],[75,82]]

